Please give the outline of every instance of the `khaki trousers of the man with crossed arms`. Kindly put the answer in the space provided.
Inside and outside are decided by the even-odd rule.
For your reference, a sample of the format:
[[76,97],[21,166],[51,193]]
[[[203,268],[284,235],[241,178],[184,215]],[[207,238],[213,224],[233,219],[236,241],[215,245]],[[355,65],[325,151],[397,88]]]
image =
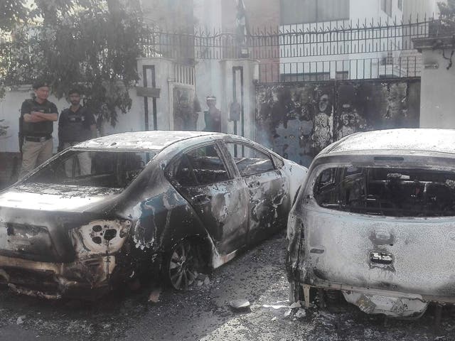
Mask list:
[[19,172],[19,179],[33,171],[41,163],[52,156],[52,139],[43,142],[23,141],[22,146],[22,167]]

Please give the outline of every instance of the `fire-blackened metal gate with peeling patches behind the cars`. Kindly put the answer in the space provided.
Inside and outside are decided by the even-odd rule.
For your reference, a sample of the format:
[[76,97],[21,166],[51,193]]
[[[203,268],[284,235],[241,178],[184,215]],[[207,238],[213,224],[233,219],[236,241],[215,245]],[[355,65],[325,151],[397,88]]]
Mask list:
[[420,78],[258,83],[256,138],[304,166],[356,131],[419,126]]

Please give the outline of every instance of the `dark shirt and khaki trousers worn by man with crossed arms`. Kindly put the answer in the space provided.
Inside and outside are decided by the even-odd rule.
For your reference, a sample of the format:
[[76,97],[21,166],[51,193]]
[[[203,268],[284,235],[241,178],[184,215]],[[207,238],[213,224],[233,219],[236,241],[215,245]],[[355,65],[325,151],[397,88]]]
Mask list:
[[43,103],[36,99],[26,99],[21,106],[21,134],[23,136],[22,167],[19,178],[33,171],[36,166],[52,156],[53,121],[26,122],[23,115],[31,112],[43,114],[57,113],[57,107],[47,99]]

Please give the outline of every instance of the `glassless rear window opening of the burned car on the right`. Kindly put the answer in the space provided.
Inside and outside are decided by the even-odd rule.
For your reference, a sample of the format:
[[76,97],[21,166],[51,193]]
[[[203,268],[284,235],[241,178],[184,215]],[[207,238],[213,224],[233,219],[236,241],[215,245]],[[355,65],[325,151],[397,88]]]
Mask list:
[[321,207],[392,217],[455,216],[455,173],[412,168],[328,168],[314,197]]

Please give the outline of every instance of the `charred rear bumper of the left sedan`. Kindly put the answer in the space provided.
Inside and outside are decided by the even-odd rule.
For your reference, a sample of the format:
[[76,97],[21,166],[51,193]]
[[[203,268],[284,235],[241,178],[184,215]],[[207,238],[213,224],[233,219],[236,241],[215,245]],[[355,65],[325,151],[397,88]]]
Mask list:
[[0,283],[13,291],[43,298],[94,299],[109,291],[115,256],[94,256],[73,263],[47,263],[0,256]]

